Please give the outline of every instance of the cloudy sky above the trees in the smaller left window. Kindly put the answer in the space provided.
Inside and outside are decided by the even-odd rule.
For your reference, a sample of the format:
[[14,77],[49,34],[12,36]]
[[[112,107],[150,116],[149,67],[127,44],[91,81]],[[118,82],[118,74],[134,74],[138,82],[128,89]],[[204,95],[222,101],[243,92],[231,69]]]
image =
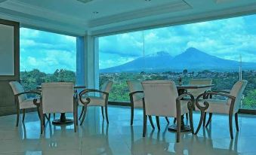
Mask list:
[[20,29],[20,70],[46,73],[76,71],[76,38],[33,29]]

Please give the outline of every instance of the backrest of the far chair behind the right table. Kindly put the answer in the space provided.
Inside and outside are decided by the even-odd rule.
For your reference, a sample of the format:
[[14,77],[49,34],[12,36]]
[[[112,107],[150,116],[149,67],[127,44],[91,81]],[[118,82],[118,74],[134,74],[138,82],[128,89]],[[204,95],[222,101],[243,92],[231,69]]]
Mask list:
[[[210,85],[212,83],[211,79],[191,79],[189,84],[192,85]],[[199,88],[199,89],[188,89],[187,93],[191,93],[195,99],[197,96],[199,96],[202,93],[205,93],[205,91],[211,90],[211,87],[207,88]]]

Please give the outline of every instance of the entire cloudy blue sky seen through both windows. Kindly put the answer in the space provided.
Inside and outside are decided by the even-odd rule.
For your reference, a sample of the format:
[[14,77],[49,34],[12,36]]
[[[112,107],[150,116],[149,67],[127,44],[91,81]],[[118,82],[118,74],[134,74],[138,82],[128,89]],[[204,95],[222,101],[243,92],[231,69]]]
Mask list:
[[[195,47],[223,59],[256,62],[256,15],[130,32],[99,38],[100,68],[165,51]],[[76,38],[20,28],[20,71],[76,71]]]

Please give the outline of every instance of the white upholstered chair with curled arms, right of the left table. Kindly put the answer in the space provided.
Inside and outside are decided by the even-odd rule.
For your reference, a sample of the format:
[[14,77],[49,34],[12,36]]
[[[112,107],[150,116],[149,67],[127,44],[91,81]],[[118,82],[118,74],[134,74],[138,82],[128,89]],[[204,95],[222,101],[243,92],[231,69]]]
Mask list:
[[[103,108],[105,108],[105,116],[106,116],[106,123],[109,123],[109,117],[107,114],[107,105],[109,100],[109,92],[112,88],[113,81],[106,81],[100,90],[94,89],[85,89],[79,93],[79,104],[82,105],[82,112],[80,114],[79,120],[82,118],[80,125],[85,120],[85,115],[88,106],[100,106],[102,117],[104,119],[104,112]],[[100,96],[88,96],[88,93],[100,93]]]

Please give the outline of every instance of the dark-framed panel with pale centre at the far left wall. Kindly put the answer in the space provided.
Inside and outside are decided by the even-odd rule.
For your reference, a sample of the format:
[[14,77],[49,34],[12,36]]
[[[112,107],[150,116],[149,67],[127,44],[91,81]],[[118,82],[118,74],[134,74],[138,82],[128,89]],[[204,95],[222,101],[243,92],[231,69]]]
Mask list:
[[0,20],[0,81],[19,79],[20,24]]

